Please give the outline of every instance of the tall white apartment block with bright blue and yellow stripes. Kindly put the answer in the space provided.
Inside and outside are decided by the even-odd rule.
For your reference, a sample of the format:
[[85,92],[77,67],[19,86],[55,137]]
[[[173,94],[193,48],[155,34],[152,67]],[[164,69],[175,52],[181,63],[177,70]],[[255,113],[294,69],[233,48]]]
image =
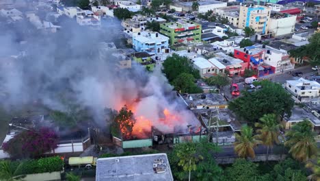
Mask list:
[[271,8],[262,5],[241,5],[239,28],[252,27],[257,34],[267,34]]

